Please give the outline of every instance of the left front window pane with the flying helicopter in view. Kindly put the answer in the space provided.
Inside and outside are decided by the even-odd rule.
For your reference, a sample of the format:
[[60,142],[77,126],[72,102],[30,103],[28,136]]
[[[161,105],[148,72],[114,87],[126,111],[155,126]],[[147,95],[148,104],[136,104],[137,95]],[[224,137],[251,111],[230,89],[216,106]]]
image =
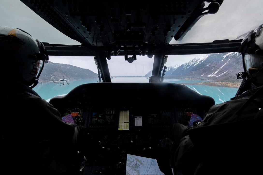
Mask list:
[[98,69],[91,56],[49,56],[33,88],[43,99],[67,95],[78,85],[97,83]]

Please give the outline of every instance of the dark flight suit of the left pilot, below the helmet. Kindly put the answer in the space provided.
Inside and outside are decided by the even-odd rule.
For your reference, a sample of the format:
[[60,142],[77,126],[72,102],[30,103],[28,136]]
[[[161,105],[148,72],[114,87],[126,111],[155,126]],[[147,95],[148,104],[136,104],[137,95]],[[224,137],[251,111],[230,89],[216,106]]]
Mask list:
[[74,171],[81,128],[62,121],[59,111],[28,86],[5,82],[4,166],[27,174]]

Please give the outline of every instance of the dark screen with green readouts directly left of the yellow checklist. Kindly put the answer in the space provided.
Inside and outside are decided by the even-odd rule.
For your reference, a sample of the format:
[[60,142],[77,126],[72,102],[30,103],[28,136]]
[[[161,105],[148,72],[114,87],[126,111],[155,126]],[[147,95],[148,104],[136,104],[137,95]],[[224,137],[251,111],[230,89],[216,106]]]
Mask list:
[[115,126],[117,111],[113,108],[92,109],[90,126]]

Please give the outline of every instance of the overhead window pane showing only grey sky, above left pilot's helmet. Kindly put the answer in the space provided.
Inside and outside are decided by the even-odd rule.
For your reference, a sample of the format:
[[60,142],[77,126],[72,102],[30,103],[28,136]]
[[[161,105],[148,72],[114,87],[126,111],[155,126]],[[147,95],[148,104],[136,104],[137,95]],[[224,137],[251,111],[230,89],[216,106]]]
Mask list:
[[81,45],[59,32],[19,0],[0,0],[0,25],[20,28],[35,39],[50,44]]

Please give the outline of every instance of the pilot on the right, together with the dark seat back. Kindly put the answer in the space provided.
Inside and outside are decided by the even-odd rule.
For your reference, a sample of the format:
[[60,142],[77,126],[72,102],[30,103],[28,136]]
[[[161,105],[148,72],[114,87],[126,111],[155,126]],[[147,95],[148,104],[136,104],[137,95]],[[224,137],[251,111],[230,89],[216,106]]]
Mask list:
[[[261,171],[257,158],[262,158],[262,135],[260,130],[254,132],[254,128],[261,128],[263,117],[263,24],[242,40],[240,54],[244,67],[244,72],[237,74],[244,80],[244,86],[239,88],[241,93],[229,101],[213,105],[195,128],[180,123],[172,126],[171,134],[177,148],[173,154],[175,168],[183,175],[254,174]],[[249,123],[251,120],[252,124]],[[217,126],[219,129],[213,130]],[[202,129],[206,132],[201,132]],[[227,134],[223,135],[225,131]],[[211,137],[205,138],[209,134]],[[238,144],[238,138],[241,138],[241,144]],[[200,140],[206,144],[202,145]],[[215,144],[209,145],[212,141]],[[225,145],[226,149],[224,147],[222,151],[217,144]],[[229,154],[225,155],[226,152]]]

